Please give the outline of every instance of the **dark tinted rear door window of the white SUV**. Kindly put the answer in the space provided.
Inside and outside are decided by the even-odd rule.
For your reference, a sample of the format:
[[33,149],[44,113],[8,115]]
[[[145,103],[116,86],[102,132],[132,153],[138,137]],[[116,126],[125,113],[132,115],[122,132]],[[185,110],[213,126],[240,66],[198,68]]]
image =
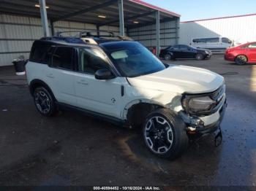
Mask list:
[[74,70],[74,52],[75,49],[73,47],[56,47],[51,66],[54,68]]

